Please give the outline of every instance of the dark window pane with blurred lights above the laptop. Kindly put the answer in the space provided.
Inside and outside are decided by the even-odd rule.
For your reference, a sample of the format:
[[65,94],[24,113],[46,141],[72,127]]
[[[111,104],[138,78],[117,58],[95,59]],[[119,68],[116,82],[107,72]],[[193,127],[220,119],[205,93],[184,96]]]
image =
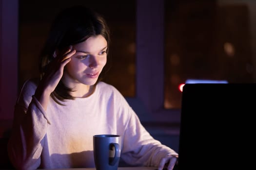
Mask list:
[[180,108],[188,79],[253,83],[249,9],[215,0],[166,0],[165,108]]

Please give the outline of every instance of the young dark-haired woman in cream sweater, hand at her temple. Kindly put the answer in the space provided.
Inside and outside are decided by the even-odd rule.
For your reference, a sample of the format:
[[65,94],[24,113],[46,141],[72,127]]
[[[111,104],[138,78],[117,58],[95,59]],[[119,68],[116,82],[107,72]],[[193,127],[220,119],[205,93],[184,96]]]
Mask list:
[[95,167],[96,134],[122,136],[127,164],[173,169],[177,153],[145,130],[115,87],[100,81],[109,43],[104,19],[86,7],[68,8],[54,20],[41,77],[25,82],[15,106],[8,153],[16,169]]

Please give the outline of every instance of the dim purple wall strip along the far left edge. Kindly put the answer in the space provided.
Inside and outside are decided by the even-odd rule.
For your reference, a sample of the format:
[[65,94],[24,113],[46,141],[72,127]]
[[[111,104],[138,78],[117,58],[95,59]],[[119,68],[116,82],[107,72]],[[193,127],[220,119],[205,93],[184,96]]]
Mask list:
[[18,85],[18,0],[0,0],[0,167],[10,168],[6,145]]

